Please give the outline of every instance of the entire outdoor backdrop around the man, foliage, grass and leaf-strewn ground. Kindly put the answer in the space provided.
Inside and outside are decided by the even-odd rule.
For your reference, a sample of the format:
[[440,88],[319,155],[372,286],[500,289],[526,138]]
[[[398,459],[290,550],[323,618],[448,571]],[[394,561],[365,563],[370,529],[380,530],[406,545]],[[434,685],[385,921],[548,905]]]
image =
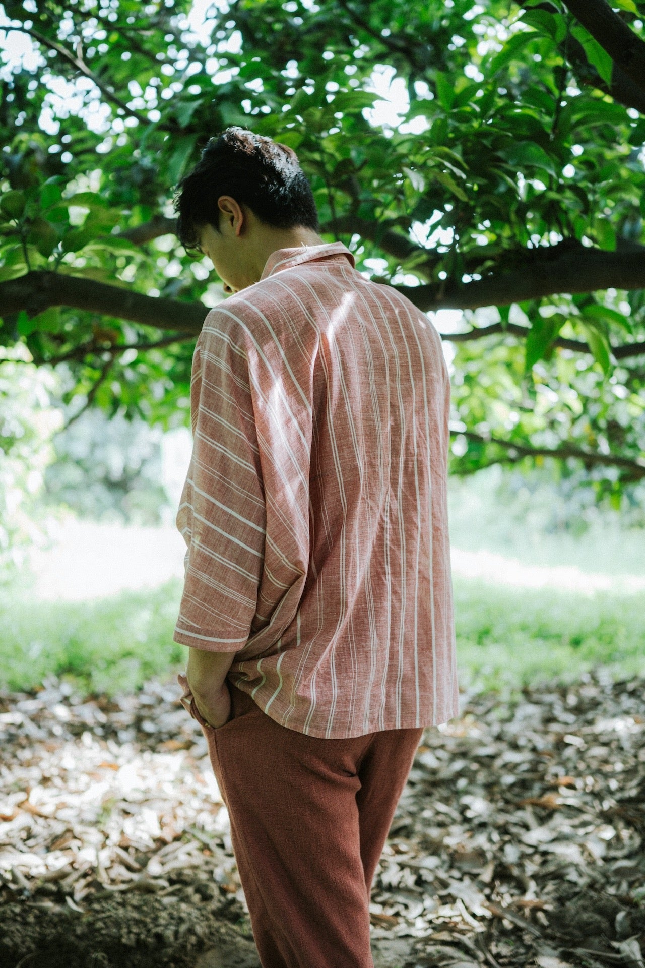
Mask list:
[[296,150],[324,240],[427,314],[451,376],[461,704],[373,936],[642,968],[643,65],[645,0],[0,4],[3,964],[189,966],[236,925],[252,948],[172,642],[224,295],[173,193],[239,125]]

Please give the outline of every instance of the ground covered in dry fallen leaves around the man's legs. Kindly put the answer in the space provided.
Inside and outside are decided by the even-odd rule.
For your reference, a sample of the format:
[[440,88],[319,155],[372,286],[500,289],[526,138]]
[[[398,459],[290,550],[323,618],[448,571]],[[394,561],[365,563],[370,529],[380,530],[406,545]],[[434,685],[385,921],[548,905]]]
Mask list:
[[[377,968],[645,968],[644,681],[462,694],[372,892]],[[228,818],[172,683],[0,694],[0,964],[257,968]]]

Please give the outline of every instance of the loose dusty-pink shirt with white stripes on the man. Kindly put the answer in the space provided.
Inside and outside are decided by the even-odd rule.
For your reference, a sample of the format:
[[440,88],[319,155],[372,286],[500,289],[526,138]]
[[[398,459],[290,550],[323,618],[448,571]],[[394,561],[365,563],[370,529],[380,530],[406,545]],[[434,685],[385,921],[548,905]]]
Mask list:
[[273,253],[197,340],[175,642],[309,736],[454,716],[449,403],[408,299],[341,243]]

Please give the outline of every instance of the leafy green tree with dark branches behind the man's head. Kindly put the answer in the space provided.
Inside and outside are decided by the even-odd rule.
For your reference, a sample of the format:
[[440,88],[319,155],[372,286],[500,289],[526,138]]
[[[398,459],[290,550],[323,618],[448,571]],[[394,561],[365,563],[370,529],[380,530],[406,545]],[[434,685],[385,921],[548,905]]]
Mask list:
[[464,311],[454,470],[554,458],[619,503],[645,478],[639,9],[7,3],[33,52],[0,114],[3,342],[67,366],[79,405],[184,419],[222,293],[173,235],[172,190],[241,124],[297,149],[362,271]]

